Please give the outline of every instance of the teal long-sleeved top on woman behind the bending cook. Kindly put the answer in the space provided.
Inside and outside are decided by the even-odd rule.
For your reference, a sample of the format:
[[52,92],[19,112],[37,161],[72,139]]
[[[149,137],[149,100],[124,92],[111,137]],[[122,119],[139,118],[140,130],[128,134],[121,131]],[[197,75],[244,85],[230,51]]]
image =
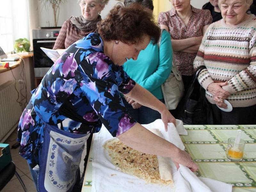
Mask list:
[[163,99],[161,84],[168,78],[172,70],[171,36],[163,30],[160,49],[151,42],[145,50],[140,51],[137,60],[127,60],[124,71],[142,87],[151,92],[157,99]]

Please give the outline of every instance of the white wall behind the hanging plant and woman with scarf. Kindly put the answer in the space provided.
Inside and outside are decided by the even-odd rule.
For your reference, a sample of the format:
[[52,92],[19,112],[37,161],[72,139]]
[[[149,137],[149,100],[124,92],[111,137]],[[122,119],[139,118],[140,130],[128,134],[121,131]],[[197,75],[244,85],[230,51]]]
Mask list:
[[[101,12],[101,17],[105,18],[109,10],[116,4],[118,1],[109,0],[108,4],[105,6],[104,10]],[[38,14],[39,14],[39,26],[40,27],[52,27],[54,25],[53,11],[50,4],[46,4],[47,10],[45,9],[44,0],[38,0]],[[63,4],[60,5],[60,14],[58,20],[58,26],[62,26],[65,20],[70,18],[70,16],[79,16],[81,15],[80,6],[77,3],[77,0],[66,0]]]

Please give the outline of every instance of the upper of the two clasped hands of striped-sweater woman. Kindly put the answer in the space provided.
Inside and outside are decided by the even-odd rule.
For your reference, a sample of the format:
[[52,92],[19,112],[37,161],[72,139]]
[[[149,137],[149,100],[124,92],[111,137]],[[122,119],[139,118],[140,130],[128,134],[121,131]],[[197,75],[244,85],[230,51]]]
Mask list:
[[228,82],[211,83],[208,85],[207,91],[209,91],[213,95],[213,97],[218,97],[220,100],[227,99],[230,93],[222,89],[222,87],[227,84]]

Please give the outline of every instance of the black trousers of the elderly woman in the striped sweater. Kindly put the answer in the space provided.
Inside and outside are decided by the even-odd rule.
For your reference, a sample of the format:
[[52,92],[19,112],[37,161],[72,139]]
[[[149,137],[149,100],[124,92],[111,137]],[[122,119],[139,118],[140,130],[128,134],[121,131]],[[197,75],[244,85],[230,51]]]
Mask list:
[[234,107],[231,112],[220,110],[215,104],[211,104],[212,120],[208,124],[237,125],[256,124],[256,105],[250,107]]

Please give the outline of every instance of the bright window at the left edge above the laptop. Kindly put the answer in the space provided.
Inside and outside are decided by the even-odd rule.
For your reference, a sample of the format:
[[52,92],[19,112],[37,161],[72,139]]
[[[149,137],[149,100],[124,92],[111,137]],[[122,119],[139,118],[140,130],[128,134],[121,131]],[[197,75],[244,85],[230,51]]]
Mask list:
[[12,1],[0,0],[0,46],[4,52],[13,50]]

